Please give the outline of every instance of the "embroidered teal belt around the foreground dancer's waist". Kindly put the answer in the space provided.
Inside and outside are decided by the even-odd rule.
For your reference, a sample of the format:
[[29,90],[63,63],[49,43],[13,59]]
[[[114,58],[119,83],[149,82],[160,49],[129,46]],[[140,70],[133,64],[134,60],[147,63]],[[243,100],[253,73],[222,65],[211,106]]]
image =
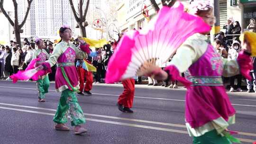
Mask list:
[[221,76],[192,76],[187,78],[192,86],[222,86]]

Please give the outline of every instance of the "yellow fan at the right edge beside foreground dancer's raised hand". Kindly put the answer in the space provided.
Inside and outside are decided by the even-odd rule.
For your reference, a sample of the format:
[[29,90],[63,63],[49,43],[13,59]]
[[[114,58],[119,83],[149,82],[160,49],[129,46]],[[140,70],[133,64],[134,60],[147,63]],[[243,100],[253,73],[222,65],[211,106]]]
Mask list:
[[256,56],[256,33],[246,31],[240,36],[240,40],[244,41],[245,38],[250,43],[252,56]]

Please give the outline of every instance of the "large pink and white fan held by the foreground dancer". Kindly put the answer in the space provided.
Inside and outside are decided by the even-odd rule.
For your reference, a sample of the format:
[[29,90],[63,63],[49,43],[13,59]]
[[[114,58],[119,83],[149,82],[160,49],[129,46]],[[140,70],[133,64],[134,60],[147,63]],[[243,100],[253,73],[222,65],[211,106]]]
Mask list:
[[168,62],[183,42],[195,33],[210,31],[200,17],[184,12],[181,2],[172,8],[163,7],[147,27],[127,32],[120,40],[108,63],[105,81],[143,75],[143,69]]

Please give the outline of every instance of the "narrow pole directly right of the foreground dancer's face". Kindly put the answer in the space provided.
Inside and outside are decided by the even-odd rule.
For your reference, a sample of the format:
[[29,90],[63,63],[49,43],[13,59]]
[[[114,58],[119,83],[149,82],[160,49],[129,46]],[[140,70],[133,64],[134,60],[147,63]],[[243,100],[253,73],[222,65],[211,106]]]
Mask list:
[[220,31],[220,23],[219,23],[219,0],[210,0],[211,5],[213,6],[214,16],[216,18],[216,22],[214,26],[211,28],[210,31],[210,42],[213,44],[214,42],[214,35],[219,33]]

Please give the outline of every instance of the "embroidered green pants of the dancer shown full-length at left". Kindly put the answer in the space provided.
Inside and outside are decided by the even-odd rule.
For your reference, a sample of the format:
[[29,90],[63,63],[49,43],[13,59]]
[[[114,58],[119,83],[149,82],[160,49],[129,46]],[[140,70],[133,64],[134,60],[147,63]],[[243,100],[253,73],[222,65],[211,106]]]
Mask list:
[[68,115],[71,118],[71,126],[85,123],[85,117],[82,108],[78,104],[75,93],[67,89],[61,93],[61,98],[53,121],[57,124],[64,124],[67,122]]

